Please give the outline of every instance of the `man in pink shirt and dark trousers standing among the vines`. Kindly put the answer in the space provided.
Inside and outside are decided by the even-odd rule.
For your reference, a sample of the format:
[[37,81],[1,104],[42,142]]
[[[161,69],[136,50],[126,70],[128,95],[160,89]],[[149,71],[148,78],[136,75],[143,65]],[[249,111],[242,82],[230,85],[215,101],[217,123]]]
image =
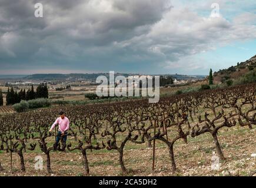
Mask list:
[[67,136],[68,136],[68,129],[69,129],[69,119],[68,117],[65,117],[64,112],[59,112],[60,117],[56,119],[54,124],[52,125],[51,129],[49,132],[54,129],[54,127],[58,124],[59,125],[59,130],[58,130],[58,135],[56,136],[55,144],[54,144],[54,150],[56,150],[56,147],[58,146],[59,140],[61,140],[62,137],[62,149],[65,149],[66,147],[66,141],[67,141]]

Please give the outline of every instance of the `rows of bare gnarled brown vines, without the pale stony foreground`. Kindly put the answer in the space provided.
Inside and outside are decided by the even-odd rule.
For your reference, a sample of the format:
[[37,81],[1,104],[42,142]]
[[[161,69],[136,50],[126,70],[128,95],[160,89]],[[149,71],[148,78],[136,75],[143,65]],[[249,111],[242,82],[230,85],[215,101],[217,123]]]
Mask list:
[[[11,160],[18,160],[19,163],[19,169],[15,169],[15,173],[25,173],[28,169],[26,164],[35,163],[34,158],[29,157],[40,154],[46,160],[46,172],[49,176],[56,172],[61,174],[62,167],[52,168],[52,165],[58,163],[64,169],[66,164],[61,162],[71,154],[70,162],[77,161],[75,157],[82,160],[78,165],[83,169],[85,176],[91,174],[92,166],[101,166],[103,157],[109,159],[109,166],[118,166],[119,175],[139,170],[139,166],[128,165],[135,159],[141,160],[140,163],[147,162],[143,168],[148,170],[152,170],[153,167],[161,171],[166,167],[168,172],[175,174],[184,166],[189,169],[189,163],[182,164],[183,157],[191,156],[190,152],[186,153],[186,150],[189,150],[188,146],[192,147],[194,140],[202,135],[210,136],[214,143],[214,147],[207,148],[208,153],[211,155],[212,152],[216,152],[222,163],[228,163],[230,159],[225,156],[225,147],[220,142],[219,132],[224,130],[228,137],[232,135],[231,130],[234,127],[236,130],[255,130],[255,91],[254,83],[169,96],[161,98],[158,103],[148,103],[145,99],[135,102],[61,106],[0,115],[0,173],[12,175]],[[69,118],[71,129],[68,132],[67,145],[61,142],[55,151],[55,133],[50,133],[49,128],[60,110],[64,110]],[[252,143],[249,150],[255,153],[256,134],[251,134]],[[222,136],[222,139],[225,138]],[[179,147],[175,147],[181,142],[184,143],[182,153]],[[198,142],[198,145],[204,150],[207,143],[202,141]],[[247,143],[244,142],[244,145]],[[136,148],[129,150],[132,155],[125,152],[128,146]],[[158,150],[158,146],[161,146],[161,150]],[[234,147],[234,155],[242,152],[243,146]],[[140,152],[140,149],[144,149],[144,152]],[[145,157],[146,151],[149,151],[151,156]],[[94,158],[88,157],[91,153],[95,153]],[[164,166],[154,164],[155,160],[161,159]],[[196,164],[200,165],[200,162]],[[72,165],[77,166],[76,163]],[[69,170],[72,170],[72,165],[69,165]],[[31,172],[40,175],[40,172],[31,168],[29,165]],[[101,169],[104,170],[104,167]],[[256,165],[251,167],[250,173],[254,174],[254,170]],[[105,170],[104,175],[109,175],[108,170]]]

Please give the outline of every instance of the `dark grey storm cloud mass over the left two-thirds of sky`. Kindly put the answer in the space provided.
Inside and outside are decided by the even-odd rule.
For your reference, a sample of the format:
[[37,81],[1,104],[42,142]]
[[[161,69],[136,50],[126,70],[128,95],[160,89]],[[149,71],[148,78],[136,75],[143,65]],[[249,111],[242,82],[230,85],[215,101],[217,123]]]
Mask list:
[[107,55],[116,56],[111,43],[148,31],[169,9],[167,1],[45,0],[44,18],[35,18],[36,2],[1,1],[0,63],[10,68],[41,62],[75,68],[111,63]]

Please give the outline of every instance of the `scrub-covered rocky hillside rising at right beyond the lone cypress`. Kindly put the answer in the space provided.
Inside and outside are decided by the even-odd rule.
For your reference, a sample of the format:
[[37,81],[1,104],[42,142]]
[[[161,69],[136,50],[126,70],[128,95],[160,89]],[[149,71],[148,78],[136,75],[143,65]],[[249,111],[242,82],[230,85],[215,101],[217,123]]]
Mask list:
[[214,82],[225,82],[228,79],[239,79],[241,76],[246,75],[249,72],[254,71],[256,68],[256,55],[245,62],[237,63],[235,66],[231,66],[227,69],[222,69],[214,72]]

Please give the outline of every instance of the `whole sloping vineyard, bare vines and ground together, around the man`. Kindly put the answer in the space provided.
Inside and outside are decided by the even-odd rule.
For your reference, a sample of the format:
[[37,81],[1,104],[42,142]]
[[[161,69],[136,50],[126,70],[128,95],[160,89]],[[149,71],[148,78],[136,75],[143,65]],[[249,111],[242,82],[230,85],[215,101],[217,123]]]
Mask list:
[[[1,176],[251,176],[256,84],[0,115]],[[67,145],[49,128],[63,110]],[[155,152],[154,152],[155,151]],[[220,169],[211,170],[213,152]],[[12,172],[11,158],[12,156]],[[35,157],[44,168],[35,169]],[[152,173],[154,163],[154,173]]]

